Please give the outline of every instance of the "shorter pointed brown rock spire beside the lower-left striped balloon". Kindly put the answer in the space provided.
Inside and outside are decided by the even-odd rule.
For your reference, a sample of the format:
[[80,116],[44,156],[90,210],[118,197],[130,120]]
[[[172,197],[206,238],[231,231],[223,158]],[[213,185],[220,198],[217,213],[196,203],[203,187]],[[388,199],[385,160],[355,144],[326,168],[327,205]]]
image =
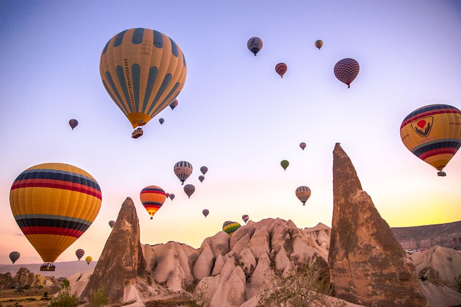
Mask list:
[[124,289],[145,276],[145,260],[139,242],[139,220],[131,198],[127,198],[81,298],[102,287],[111,302],[123,300]]

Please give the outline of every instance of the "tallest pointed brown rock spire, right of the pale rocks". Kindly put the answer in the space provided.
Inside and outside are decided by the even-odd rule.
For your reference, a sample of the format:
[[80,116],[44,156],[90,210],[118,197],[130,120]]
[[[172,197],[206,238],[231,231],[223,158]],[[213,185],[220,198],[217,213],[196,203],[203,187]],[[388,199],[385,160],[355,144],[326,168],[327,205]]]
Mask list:
[[331,225],[328,264],[339,298],[366,306],[426,305],[414,266],[339,143],[333,150]]

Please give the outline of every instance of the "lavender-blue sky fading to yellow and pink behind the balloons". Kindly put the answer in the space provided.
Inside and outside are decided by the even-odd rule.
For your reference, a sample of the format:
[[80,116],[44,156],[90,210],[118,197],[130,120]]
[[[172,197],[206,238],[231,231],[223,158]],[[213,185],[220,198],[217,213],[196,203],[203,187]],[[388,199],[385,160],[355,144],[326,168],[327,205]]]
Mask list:
[[[97,259],[108,221],[128,196],[143,244],[198,248],[224,221],[243,223],[243,214],[331,225],[336,142],[391,227],[461,220],[459,153],[447,177],[437,177],[399,134],[418,107],[461,108],[457,1],[11,1],[0,3],[0,17],[2,264],[13,250],[18,264],[41,261],[14,221],[9,190],[20,172],[46,162],[86,170],[102,191],[93,225],[57,261],[75,260],[78,248]],[[137,27],[178,43],[187,77],[178,107],[164,109],[135,140],[104,90],[99,58],[111,37]],[[253,36],[263,40],[257,57],[246,48]],[[333,74],[346,57],[360,63],[350,89]],[[288,65],[283,79],[278,62]],[[173,172],[181,160],[194,167],[191,199]],[[176,195],[152,221],[139,199],[148,185]],[[306,206],[295,196],[302,185],[312,190]]]

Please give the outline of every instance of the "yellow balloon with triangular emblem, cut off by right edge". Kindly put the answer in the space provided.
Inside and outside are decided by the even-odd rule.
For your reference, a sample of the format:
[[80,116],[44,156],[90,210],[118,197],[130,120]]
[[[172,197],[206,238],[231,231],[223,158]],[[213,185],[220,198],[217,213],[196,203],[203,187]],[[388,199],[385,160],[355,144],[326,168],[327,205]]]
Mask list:
[[444,167],[461,147],[461,111],[448,104],[430,104],[408,114],[400,126],[405,147],[446,176]]

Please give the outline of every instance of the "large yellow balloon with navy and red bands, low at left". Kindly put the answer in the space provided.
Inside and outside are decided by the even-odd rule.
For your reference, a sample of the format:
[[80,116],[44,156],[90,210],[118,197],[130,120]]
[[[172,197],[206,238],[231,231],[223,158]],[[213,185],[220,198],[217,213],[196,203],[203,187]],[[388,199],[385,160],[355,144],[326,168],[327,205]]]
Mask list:
[[10,206],[17,225],[54,271],[56,258],[85,232],[101,207],[101,189],[86,171],[68,164],[32,166],[16,178]]

